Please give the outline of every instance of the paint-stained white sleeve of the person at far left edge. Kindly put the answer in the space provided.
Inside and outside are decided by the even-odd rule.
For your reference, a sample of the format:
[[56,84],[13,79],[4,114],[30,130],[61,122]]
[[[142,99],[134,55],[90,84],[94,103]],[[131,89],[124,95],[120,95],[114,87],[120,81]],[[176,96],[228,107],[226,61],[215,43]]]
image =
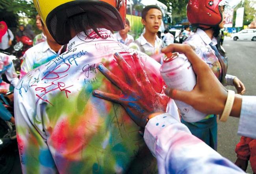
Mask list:
[[5,62],[6,72],[5,72],[5,74],[6,74],[8,81],[15,87],[19,82],[19,78],[18,78],[18,75],[13,66],[12,59],[15,59],[15,56],[7,56],[6,57],[6,62]]

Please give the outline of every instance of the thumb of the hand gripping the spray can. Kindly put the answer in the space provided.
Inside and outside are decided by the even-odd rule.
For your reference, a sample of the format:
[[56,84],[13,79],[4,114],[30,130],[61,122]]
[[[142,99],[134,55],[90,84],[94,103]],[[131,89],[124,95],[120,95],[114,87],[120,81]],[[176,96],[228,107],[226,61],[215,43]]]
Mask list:
[[164,90],[165,94],[172,99],[183,101],[190,105],[191,102],[191,92],[188,91],[180,91],[176,89],[166,88]]

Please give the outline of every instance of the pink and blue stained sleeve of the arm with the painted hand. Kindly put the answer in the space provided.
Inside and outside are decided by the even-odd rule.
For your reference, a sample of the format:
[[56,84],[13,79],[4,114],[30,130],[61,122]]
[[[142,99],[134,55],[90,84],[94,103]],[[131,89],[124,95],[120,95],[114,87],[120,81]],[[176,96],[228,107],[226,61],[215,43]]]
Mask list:
[[160,174],[245,173],[167,113],[148,121],[144,139],[158,161]]

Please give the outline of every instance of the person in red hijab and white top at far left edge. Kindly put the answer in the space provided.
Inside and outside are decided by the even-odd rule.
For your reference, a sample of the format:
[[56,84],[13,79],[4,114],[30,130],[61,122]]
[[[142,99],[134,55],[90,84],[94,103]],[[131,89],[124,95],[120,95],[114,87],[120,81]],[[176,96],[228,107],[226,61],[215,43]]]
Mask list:
[[6,22],[0,21],[0,50],[9,53],[13,38],[13,33],[8,29]]

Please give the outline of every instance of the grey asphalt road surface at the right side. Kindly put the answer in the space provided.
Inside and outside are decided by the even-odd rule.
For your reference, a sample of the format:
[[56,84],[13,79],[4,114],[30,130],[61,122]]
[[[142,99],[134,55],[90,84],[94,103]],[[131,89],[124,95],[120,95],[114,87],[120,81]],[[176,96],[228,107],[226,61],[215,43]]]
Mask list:
[[[225,38],[223,47],[228,56],[228,74],[235,75],[245,84],[245,95],[256,95],[256,42],[234,41]],[[228,89],[235,90],[232,86]],[[219,123],[218,152],[231,161],[236,161],[234,149],[240,140],[237,136],[239,119],[230,117],[226,123]],[[248,173],[252,169],[247,168]]]

